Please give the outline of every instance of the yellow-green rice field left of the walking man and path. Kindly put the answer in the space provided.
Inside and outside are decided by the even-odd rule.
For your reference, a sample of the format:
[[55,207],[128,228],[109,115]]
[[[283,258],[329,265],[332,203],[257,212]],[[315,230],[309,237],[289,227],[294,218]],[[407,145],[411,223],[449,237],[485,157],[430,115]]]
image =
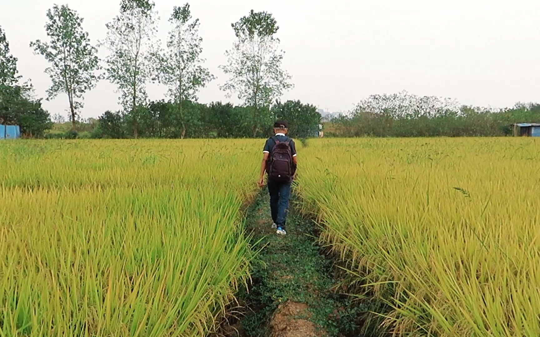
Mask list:
[[249,277],[255,144],[0,144],[0,336],[211,331]]

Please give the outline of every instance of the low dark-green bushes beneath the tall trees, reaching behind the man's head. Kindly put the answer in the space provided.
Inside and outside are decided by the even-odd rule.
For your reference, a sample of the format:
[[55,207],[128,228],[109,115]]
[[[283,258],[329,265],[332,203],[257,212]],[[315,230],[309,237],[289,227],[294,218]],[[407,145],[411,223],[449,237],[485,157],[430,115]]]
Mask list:
[[[62,133],[50,133],[50,138],[245,138],[266,137],[272,133],[276,119],[289,121],[289,134],[293,137],[316,136],[320,114],[316,107],[300,101],[276,101],[271,108],[261,108],[254,119],[254,108],[233,106],[230,103],[212,102],[200,104],[182,102],[183,119],[172,101],[152,101],[137,109],[137,119],[131,114],[106,111],[98,119],[84,120],[78,125],[78,133],[64,127]],[[63,122],[63,120],[60,120]],[[60,123],[59,123],[60,124]],[[65,125],[62,123],[60,125]],[[252,130],[257,129],[253,134]],[[79,131],[80,130],[80,131]]]

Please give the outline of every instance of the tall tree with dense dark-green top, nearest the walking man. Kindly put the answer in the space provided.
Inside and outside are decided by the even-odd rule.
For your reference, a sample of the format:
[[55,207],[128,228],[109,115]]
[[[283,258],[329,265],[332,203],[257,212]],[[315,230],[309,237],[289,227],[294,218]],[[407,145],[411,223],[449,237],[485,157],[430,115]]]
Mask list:
[[[257,121],[260,107],[268,107],[292,87],[291,76],[281,67],[284,52],[275,36],[279,26],[270,13],[252,10],[232,28],[237,41],[225,52],[227,64],[220,67],[230,75],[221,90],[229,95],[237,93],[239,99],[254,108],[253,121]],[[260,126],[255,123],[252,128],[255,136]]]

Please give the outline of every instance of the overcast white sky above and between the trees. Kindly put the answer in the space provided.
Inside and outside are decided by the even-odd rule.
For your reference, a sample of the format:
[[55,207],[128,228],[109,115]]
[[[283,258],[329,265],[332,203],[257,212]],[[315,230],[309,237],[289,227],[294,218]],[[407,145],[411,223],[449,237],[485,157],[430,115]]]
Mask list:
[[[19,72],[45,97],[50,85],[42,56],[31,40],[45,39],[45,12],[53,0],[0,0],[0,25]],[[92,42],[105,37],[105,23],[119,0],[64,0],[85,20]],[[185,1],[156,0],[159,38],[167,18]],[[284,67],[294,89],[282,99],[300,99],[329,111],[347,111],[370,94],[407,90],[455,98],[463,104],[504,107],[540,101],[540,1],[538,0],[192,0],[200,19],[203,57],[218,77],[199,93],[200,102],[228,99],[219,90],[224,51],[233,43],[231,23],[249,10],[266,10],[278,20]],[[100,51],[100,57],[105,56]],[[107,81],[86,94],[84,118],[118,109],[116,87]],[[150,99],[165,88],[149,85]],[[233,98],[231,101],[236,102]],[[44,106],[67,115],[65,95]]]

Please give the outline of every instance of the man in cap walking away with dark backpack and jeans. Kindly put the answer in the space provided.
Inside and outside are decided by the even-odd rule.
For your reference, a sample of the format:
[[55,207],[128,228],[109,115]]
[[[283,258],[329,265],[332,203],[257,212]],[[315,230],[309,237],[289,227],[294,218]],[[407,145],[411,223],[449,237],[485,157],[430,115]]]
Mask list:
[[272,210],[272,228],[279,235],[286,235],[285,220],[291,196],[291,183],[296,173],[296,148],[294,141],[287,137],[287,122],[274,123],[274,136],[270,137],[262,150],[261,174],[259,185],[264,186],[265,171],[268,174],[268,192]]

